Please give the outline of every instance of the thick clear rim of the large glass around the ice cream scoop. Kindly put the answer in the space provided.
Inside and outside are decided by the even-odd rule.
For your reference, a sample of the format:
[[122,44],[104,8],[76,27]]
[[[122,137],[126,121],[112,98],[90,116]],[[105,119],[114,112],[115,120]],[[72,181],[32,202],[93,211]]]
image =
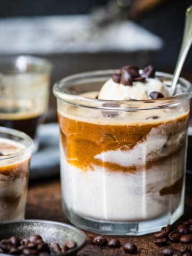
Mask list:
[[[140,70],[141,72],[142,70]],[[53,94],[57,99],[65,101],[67,103],[71,103],[72,105],[87,107],[87,108],[96,108],[96,109],[105,109],[105,110],[148,110],[148,109],[156,109],[156,108],[167,108],[174,107],[179,105],[181,102],[185,102],[189,100],[192,96],[192,86],[189,81],[185,78],[180,77],[178,84],[188,86],[188,90],[181,94],[177,94],[171,97],[160,98],[160,99],[147,99],[147,100],[101,100],[101,99],[92,99],[85,98],[79,95],[70,94],[68,92],[63,91],[66,85],[73,84],[75,81],[85,81],[87,78],[96,79],[99,77],[106,76],[106,81],[114,73],[118,73],[119,69],[107,69],[107,70],[96,70],[96,71],[86,71],[83,73],[77,73],[74,75],[66,76],[62,78],[60,81],[56,82],[53,85]],[[110,77],[109,77],[110,75]],[[108,78],[107,78],[108,76]],[[161,71],[156,71],[156,78],[165,77],[172,79],[173,75],[169,73],[164,73]],[[108,105],[106,104],[108,103]],[[147,104],[146,104],[147,103]],[[109,106],[110,105],[110,106]],[[144,106],[143,106],[144,105]]]

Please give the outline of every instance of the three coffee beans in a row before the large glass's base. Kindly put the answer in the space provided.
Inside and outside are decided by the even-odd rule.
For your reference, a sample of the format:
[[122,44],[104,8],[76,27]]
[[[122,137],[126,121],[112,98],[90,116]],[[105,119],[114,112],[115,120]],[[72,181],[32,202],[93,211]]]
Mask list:
[[[92,244],[99,246],[107,245],[108,247],[113,248],[122,246],[119,239],[112,238],[109,241],[107,241],[107,239],[101,235],[94,237],[92,240]],[[127,253],[135,253],[138,251],[137,246],[130,242],[127,242],[123,245],[123,250]]]

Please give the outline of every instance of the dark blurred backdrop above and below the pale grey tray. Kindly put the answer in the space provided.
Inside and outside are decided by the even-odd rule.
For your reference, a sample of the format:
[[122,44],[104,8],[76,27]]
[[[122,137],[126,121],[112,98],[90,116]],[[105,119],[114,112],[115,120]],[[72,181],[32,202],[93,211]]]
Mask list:
[[[140,51],[137,53],[137,58],[134,52],[130,57],[129,52],[113,51],[97,52],[97,54],[90,52],[43,54],[43,57],[53,61],[53,84],[63,76],[77,71],[119,68],[119,65],[130,63],[130,60],[134,62],[134,56],[135,60],[137,59],[136,64],[140,64],[141,68],[150,62],[156,69],[172,73],[182,41],[185,11],[190,4],[192,4],[191,0],[0,0],[0,17],[2,20],[13,17],[89,14],[101,23],[101,26],[118,19],[132,20],[163,40],[161,49],[148,52],[146,55]],[[114,6],[118,10],[114,11]],[[106,20],[102,20],[103,15],[107,17]],[[41,55],[41,53],[38,52],[36,55]],[[146,58],[146,61],[143,62],[143,58]],[[182,71],[182,76],[188,79],[192,78],[191,65],[192,53],[190,52]],[[51,95],[50,118],[54,116],[55,99]]]

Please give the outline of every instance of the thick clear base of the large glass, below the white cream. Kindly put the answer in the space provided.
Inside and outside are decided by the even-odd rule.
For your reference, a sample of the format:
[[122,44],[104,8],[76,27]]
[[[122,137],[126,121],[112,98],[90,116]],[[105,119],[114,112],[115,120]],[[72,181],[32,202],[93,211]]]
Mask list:
[[130,235],[140,236],[149,233],[154,233],[161,230],[162,227],[174,223],[183,214],[183,205],[180,204],[174,213],[167,213],[163,216],[147,220],[147,221],[130,221],[130,222],[117,222],[107,220],[96,220],[80,216],[73,211],[68,211],[63,205],[68,219],[76,227],[92,231],[102,235]]

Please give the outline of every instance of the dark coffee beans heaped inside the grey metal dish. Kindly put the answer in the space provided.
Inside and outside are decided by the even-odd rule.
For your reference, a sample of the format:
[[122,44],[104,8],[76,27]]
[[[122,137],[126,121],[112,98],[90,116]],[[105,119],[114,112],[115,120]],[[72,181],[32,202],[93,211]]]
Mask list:
[[67,240],[60,247],[58,243],[46,243],[39,235],[31,235],[25,238],[12,236],[9,239],[0,241],[0,253],[12,255],[55,255],[65,253],[75,247],[76,243],[73,240]]

